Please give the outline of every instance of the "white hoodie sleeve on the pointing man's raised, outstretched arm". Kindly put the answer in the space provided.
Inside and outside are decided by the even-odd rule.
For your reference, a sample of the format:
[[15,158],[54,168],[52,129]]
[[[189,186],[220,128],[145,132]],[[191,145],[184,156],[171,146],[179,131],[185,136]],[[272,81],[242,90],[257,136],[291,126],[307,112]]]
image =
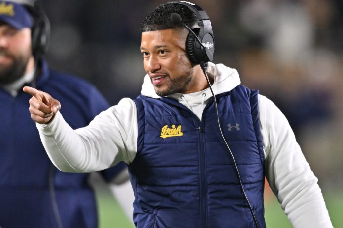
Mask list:
[[101,112],[87,127],[73,130],[59,112],[47,125],[36,124],[53,164],[65,172],[93,172],[131,163],[137,150],[137,109],[133,100]]

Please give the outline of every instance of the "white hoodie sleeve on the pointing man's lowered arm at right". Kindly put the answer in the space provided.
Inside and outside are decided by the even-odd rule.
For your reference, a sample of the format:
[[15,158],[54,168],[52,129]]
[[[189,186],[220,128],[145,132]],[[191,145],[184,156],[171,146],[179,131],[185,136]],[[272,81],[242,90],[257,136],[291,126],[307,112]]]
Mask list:
[[295,228],[332,228],[317,178],[295,135],[272,101],[259,95],[266,177]]

